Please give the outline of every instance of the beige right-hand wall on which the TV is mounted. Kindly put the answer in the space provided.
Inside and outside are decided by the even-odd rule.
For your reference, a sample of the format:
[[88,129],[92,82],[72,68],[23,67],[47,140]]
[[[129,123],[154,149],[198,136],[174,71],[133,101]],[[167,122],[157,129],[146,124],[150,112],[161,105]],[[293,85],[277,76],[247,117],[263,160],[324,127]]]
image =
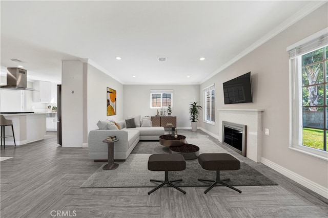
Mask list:
[[[328,188],[327,161],[289,149],[289,57],[286,48],[327,26],[325,4],[200,85],[202,90],[215,82],[216,109],[263,108],[263,128],[270,129],[270,136],[262,135],[262,162],[294,173],[299,180],[307,180],[310,186],[313,183],[322,190]],[[224,105],[222,82],[249,71],[252,72],[254,103]],[[202,94],[200,97],[203,101]],[[216,113],[216,120],[218,116]],[[201,123],[204,129],[221,136],[219,125]]]

